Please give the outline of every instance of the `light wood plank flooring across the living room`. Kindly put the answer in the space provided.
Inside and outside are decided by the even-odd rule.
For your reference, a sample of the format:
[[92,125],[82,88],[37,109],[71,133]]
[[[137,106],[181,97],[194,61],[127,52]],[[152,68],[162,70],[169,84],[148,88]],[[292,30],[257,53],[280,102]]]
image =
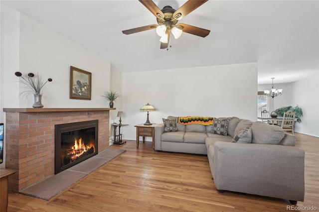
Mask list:
[[[297,207],[319,210],[319,138],[295,134],[296,146],[306,152],[305,201]],[[136,141],[111,148],[127,151],[50,201],[10,192],[8,212],[282,212],[292,206],[274,198],[219,194],[207,156],[156,152],[151,142],[141,142],[139,149]]]

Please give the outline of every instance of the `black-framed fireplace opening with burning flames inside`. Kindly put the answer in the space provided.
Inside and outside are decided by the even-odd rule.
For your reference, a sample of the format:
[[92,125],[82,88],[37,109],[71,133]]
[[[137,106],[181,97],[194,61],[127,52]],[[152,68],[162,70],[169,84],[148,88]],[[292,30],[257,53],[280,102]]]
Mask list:
[[98,120],[55,125],[55,174],[97,153]]

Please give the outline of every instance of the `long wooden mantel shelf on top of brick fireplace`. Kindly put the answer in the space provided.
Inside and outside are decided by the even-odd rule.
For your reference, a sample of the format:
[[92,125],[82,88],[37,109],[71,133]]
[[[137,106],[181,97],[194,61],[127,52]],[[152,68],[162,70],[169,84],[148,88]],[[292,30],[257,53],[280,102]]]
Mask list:
[[69,111],[104,111],[116,108],[3,108],[3,112],[69,112]]

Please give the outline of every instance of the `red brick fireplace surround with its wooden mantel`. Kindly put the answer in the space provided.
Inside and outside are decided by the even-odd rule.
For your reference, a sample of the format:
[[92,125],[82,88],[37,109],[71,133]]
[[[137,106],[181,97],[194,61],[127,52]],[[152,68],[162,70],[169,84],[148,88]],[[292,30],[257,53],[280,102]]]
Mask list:
[[109,147],[109,110],[115,108],[3,108],[5,167],[18,170],[9,189],[20,191],[54,175],[55,124],[98,120],[98,152]]

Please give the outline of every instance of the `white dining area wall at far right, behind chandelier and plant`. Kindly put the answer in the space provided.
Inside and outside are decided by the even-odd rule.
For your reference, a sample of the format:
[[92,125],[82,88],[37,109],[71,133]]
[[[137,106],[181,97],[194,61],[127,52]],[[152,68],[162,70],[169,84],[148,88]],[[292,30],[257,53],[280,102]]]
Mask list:
[[[269,90],[270,85],[258,85],[258,91]],[[297,82],[275,84],[276,89],[283,89],[281,96],[268,98],[273,111],[283,106],[300,106],[304,116],[302,122],[296,122],[295,131],[319,137],[319,75],[301,79]]]

